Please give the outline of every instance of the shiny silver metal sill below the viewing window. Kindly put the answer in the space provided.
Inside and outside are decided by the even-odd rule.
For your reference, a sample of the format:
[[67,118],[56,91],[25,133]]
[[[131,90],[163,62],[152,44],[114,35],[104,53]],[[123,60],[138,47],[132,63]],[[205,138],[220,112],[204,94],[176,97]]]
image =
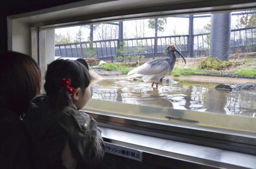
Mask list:
[[150,137],[107,127],[100,127],[100,129],[105,142],[142,151],[142,162],[150,162],[150,158],[160,157],[161,165],[166,167],[170,167],[169,159],[170,161],[175,159],[184,161],[190,165],[190,168],[195,166],[191,164],[204,168],[256,168],[256,155]]

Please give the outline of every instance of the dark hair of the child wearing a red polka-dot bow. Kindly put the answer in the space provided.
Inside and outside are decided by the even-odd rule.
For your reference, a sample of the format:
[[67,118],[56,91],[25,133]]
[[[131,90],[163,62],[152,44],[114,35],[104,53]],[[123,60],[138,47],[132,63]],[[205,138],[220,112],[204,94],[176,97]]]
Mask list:
[[61,82],[64,78],[71,79],[70,87],[80,87],[83,92],[90,84],[90,74],[80,62],[61,58],[53,61],[47,68],[44,89],[56,111],[72,104],[70,93]]

